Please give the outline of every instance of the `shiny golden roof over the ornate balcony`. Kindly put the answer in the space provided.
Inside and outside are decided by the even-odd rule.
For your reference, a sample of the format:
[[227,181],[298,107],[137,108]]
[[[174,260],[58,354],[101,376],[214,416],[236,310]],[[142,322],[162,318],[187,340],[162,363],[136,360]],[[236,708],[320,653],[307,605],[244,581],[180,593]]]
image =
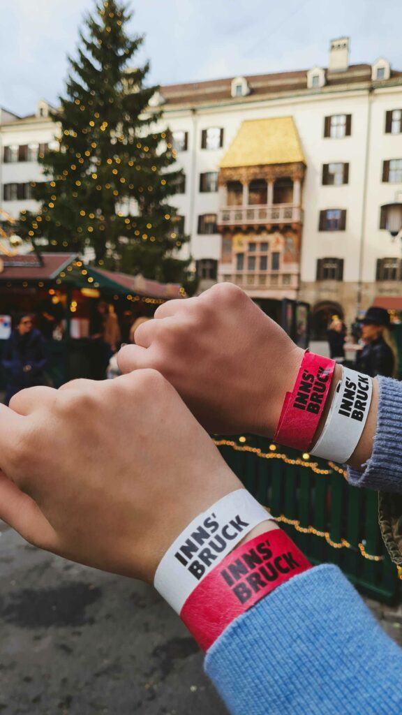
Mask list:
[[247,119],[240,124],[220,168],[305,163],[293,117]]

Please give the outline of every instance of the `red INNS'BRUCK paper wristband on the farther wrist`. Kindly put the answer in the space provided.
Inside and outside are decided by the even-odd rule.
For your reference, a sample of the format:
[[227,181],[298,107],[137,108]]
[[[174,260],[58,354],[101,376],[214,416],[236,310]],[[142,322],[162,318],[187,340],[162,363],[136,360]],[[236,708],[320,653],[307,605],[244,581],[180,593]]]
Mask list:
[[306,350],[291,393],[286,393],[275,442],[308,450],[328,398],[335,360]]

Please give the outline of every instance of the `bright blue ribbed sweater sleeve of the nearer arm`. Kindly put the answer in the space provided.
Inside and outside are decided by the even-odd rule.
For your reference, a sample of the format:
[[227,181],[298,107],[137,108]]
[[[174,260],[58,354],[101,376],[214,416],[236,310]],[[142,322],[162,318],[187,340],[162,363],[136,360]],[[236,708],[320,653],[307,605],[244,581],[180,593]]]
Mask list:
[[232,715],[401,715],[402,651],[336,566],[237,618],[205,659]]

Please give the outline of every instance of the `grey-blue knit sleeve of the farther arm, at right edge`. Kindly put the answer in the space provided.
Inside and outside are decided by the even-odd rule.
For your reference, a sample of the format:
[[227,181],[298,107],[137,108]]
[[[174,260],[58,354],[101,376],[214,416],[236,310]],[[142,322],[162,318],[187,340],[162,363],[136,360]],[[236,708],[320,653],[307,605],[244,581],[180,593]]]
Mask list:
[[356,487],[402,492],[402,383],[392,378],[378,378],[378,383],[373,453],[363,472],[348,469],[348,480]]

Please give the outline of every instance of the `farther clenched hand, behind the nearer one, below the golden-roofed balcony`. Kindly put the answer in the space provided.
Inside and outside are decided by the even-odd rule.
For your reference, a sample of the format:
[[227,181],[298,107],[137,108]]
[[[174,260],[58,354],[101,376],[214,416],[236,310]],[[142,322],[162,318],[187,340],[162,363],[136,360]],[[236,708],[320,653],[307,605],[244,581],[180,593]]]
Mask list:
[[212,433],[272,436],[303,350],[240,288],[170,300],[120,350],[122,373],[155,368]]

